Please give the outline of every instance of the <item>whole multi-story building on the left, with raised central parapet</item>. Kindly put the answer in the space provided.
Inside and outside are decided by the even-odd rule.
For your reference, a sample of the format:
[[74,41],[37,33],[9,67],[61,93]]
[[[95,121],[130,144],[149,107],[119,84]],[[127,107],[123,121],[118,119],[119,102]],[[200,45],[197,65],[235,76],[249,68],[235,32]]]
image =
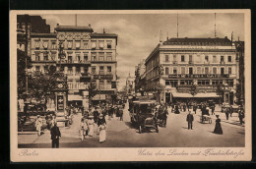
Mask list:
[[44,72],[50,65],[63,71],[69,104],[88,104],[90,83],[96,92],[93,102],[111,101],[116,94],[117,34],[94,33],[90,25],[54,29],[54,33],[32,33],[32,71]]

